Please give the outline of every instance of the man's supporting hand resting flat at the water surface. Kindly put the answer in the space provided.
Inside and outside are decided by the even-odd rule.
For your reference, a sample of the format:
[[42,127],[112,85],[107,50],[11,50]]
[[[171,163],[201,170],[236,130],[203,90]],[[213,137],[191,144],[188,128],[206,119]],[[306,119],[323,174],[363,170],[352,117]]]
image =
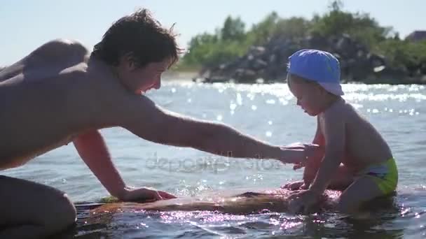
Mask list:
[[123,201],[158,201],[176,198],[176,196],[165,191],[157,191],[155,189],[142,188],[126,188],[121,200]]

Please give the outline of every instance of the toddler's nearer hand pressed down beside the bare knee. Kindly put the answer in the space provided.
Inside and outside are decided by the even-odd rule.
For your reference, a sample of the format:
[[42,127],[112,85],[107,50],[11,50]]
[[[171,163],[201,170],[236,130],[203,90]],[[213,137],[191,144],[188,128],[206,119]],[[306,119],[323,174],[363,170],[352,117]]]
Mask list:
[[293,213],[308,213],[310,208],[320,201],[320,196],[320,194],[309,189],[298,191],[289,196],[289,211]]

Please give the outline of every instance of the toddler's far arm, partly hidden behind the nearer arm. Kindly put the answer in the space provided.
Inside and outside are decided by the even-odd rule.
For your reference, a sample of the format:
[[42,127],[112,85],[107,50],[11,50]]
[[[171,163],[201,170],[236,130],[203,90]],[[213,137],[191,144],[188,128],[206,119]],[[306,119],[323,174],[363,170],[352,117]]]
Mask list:
[[320,168],[321,160],[324,157],[324,136],[322,136],[320,129],[320,121],[317,117],[317,131],[315,132],[314,139],[312,144],[320,145],[317,154],[314,157],[310,157],[305,165],[305,170],[303,171],[303,182],[306,188],[309,187],[311,182],[314,180],[315,175],[317,175],[318,168]]

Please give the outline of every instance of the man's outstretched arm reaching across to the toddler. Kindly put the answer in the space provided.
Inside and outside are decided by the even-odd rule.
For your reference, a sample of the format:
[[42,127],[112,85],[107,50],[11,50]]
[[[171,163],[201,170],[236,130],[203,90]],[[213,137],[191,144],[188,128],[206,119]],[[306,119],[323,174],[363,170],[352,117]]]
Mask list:
[[123,106],[126,129],[155,143],[193,147],[212,154],[238,158],[279,159],[295,163],[305,159],[303,147],[286,148],[258,140],[226,124],[207,122],[163,110],[145,96]]

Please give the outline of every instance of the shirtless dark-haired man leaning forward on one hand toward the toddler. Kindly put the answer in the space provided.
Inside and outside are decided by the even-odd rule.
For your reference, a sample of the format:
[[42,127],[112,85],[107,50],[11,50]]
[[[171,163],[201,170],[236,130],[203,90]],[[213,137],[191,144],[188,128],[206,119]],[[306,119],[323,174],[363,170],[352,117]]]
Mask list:
[[[315,147],[279,147],[230,126],[156,106],[143,95],[178,59],[174,35],[147,10],[122,17],[89,52],[76,41],[50,41],[0,71],[0,169],[73,142],[112,196],[123,201],[173,195],[127,187],[99,129],[121,126],[145,140],[232,157],[303,161]],[[31,198],[31,200],[27,198]],[[57,189],[0,176],[0,238],[41,238],[74,224],[76,210]]]

